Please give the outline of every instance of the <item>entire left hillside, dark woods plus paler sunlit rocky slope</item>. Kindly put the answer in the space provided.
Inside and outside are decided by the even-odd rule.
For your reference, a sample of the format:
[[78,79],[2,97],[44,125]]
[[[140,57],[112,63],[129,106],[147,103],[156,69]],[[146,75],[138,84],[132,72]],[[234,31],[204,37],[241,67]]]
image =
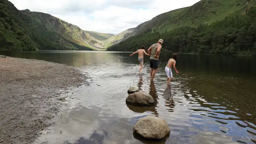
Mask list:
[[112,36],[90,34],[50,14],[20,11],[0,0],[0,50],[100,50],[104,49],[101,40]]

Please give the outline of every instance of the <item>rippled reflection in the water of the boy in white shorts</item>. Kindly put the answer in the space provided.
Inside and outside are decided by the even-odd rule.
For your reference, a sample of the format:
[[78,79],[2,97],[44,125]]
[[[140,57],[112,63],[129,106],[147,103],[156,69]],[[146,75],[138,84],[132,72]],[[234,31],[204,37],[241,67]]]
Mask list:
[[[172,96],[172,91],[171,91],[171,86],[167,86],[165,91],[163,92],[163,98],[166,99],[166,107],[169,108],[174,108],[175,107],[175,102],[173,101],[173,96]],[[173,112],[173,109],[168,109],[169,112]]]

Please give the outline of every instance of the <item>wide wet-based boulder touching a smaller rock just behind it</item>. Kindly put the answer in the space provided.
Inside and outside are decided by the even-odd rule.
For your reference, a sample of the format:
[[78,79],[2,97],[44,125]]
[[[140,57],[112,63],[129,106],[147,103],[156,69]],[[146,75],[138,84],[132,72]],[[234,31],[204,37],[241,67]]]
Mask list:
[[134,92],[128,95],[126,103],[137,106],[150,106],[154,104],[154,98],[145,92]]

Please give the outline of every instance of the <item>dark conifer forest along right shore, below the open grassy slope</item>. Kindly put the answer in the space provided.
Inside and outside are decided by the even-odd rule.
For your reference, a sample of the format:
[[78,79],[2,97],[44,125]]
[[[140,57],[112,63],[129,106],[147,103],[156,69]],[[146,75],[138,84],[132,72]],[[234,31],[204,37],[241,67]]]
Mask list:
[[197,54],[254,55],[256,53],[256,7],[232,14],[211,25],[182,26],[169,32],[142,33],[108,48],[108,51],[135,51],[164,40],[163,51]]

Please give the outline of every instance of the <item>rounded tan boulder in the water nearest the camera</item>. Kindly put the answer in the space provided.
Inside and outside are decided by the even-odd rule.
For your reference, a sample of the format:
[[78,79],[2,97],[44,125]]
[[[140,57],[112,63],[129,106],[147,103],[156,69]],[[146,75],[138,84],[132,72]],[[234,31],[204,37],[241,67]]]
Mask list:
[[162,140],[170,134],[167,122],[154,116],[140,118],[133,130],[143,138],[154,140]]

